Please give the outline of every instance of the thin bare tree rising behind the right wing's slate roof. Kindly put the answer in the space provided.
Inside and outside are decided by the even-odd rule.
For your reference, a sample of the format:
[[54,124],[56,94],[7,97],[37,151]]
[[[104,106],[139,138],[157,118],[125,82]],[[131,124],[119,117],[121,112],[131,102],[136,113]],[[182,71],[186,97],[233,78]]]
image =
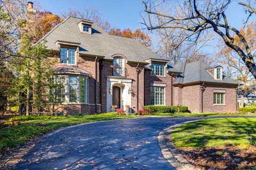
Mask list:
[[[162,11],[167,13],[168,11],[173,10],[169,7],[169,5],[165,6],[156,6],[157,11]],[[181,15],[182,13],[175,10],[177,15]],[[166,21],[166,18],[160,15],[156,15],[155,18],[151,18],[150,22],[155,25],[162,25]],[[205,60],[209,61],[209,54],[203,53],[202,48],[210,46],[210,41],[213,39],[213,36],[201,36],[200,39],[197,40],[197,43],[191,43],[189,40],[185,40],[181,43],[182,37],[188,36],[188,32],[185,30],[177,30],[172,28],[162,28],[156,29],[153,31],[154,35],[157,37],[156,41],[156,53],[159,54],[164,59],[170,61],[170,63],[177,62],[193,62],[195,60]]]

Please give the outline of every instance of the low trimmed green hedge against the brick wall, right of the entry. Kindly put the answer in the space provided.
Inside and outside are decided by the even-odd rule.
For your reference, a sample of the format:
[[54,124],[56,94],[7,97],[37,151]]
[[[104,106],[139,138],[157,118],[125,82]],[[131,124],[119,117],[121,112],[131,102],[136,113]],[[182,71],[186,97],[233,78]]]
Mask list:
[[[178,112],[178,106],[144,106],[144,109],[150,109],[153,113],[174,113]],[[172,109],[172,111],[171,111]],[[187,106],[180,106],[180,112],[189,112]]]

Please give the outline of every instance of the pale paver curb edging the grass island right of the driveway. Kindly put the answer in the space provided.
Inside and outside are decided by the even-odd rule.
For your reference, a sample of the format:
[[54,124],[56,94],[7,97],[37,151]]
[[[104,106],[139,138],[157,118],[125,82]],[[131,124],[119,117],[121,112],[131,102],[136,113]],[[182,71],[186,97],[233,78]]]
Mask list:
[[164,158],[178,170],[187,170],[187,169],[196,169],[193,165],[191,165],[183,156],[180,154],[179,150],[174,146],[173,141],[170,138],[172,131],[175,128],[179,128],[182,124],[197,122],[196,121],[188,121],[179,124],[175,124],[173,126],[169,126],[168,128],[163,129],[158,133],[158,145],[161,149],[161,152]]

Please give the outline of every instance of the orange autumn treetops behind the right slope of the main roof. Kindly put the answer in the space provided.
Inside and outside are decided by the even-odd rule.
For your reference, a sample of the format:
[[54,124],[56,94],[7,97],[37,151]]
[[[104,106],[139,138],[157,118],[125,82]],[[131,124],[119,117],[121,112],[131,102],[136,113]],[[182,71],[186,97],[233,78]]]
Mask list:
[[110,35],[135,38],[146,47],[151,46],[150,36],[147,33],[141,31],[141,29],[137,29],[134,32],[132,32],[130,28],[124,29],[123,31],[121,31],[121,29],[112,28],[108,33]]

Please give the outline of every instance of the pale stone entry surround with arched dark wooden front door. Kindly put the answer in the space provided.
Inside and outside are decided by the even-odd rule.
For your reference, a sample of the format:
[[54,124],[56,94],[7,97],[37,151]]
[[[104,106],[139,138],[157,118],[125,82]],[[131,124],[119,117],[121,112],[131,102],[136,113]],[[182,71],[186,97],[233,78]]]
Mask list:
[[122,109],[132,105],[132,79],[107,77],[107,112],[111,112],[111,105]]

